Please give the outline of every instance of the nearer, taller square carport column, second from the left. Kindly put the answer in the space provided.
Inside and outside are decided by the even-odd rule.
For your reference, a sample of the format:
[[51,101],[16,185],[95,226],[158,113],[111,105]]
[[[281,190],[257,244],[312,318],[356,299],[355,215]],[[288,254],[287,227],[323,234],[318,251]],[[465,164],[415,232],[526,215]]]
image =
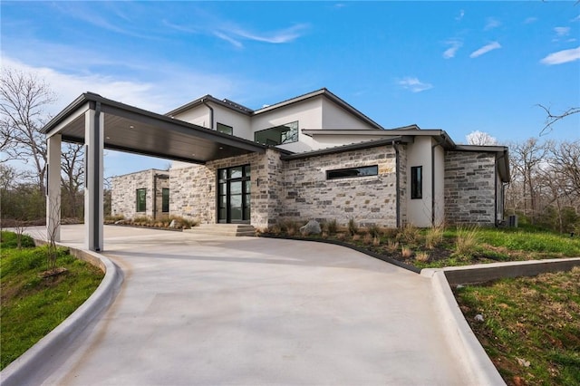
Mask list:
[[92,251],[103,247],[103,146],[104,116],[101,103],[84,113],[84,230],[85,243]]

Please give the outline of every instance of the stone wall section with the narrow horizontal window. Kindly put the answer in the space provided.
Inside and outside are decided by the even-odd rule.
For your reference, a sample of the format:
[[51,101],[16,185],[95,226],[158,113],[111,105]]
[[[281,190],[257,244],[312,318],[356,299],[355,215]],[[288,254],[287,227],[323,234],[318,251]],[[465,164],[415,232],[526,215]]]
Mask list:
[[[326,179],[326,170],[372,165],[378,176]],[[382,146],[286,161],[284,191],[285,219],[346,225],[353,218],[359,225],[396,227],[395,151]]]

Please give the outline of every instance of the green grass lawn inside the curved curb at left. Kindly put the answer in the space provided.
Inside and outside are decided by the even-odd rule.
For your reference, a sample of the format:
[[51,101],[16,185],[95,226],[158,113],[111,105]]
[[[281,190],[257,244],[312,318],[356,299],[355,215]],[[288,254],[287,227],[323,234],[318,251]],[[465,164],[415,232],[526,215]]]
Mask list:
[[73,313],[102,281],[102,271],[59,249],[60,275],[43,277],[46,247],[15,247],[15,234],[2,232],[0,253],[0,370]]

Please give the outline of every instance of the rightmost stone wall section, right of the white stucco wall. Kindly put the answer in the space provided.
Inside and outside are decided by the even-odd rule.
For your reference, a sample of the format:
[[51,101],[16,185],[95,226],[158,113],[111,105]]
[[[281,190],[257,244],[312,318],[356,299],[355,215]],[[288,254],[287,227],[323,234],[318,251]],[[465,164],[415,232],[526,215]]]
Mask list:
[[495,225],[494,153],[448,151],[445,155],[445,219],[448,225]]

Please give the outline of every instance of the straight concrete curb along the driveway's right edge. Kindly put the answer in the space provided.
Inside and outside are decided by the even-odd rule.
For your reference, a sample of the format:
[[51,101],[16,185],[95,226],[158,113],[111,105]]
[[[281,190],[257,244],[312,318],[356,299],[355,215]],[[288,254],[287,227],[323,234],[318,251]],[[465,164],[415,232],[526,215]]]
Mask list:
[[469,381],[465,384],[474,385],[505,385],[498,369],[491,362],[488,353],[469,327],[459,304],[451,292],[445,273],[439,269],[426,268],[420,275],[430,278],[437,308],[440,310],[443,325],[452,347],[457,348],[461,366],[466,370]]

